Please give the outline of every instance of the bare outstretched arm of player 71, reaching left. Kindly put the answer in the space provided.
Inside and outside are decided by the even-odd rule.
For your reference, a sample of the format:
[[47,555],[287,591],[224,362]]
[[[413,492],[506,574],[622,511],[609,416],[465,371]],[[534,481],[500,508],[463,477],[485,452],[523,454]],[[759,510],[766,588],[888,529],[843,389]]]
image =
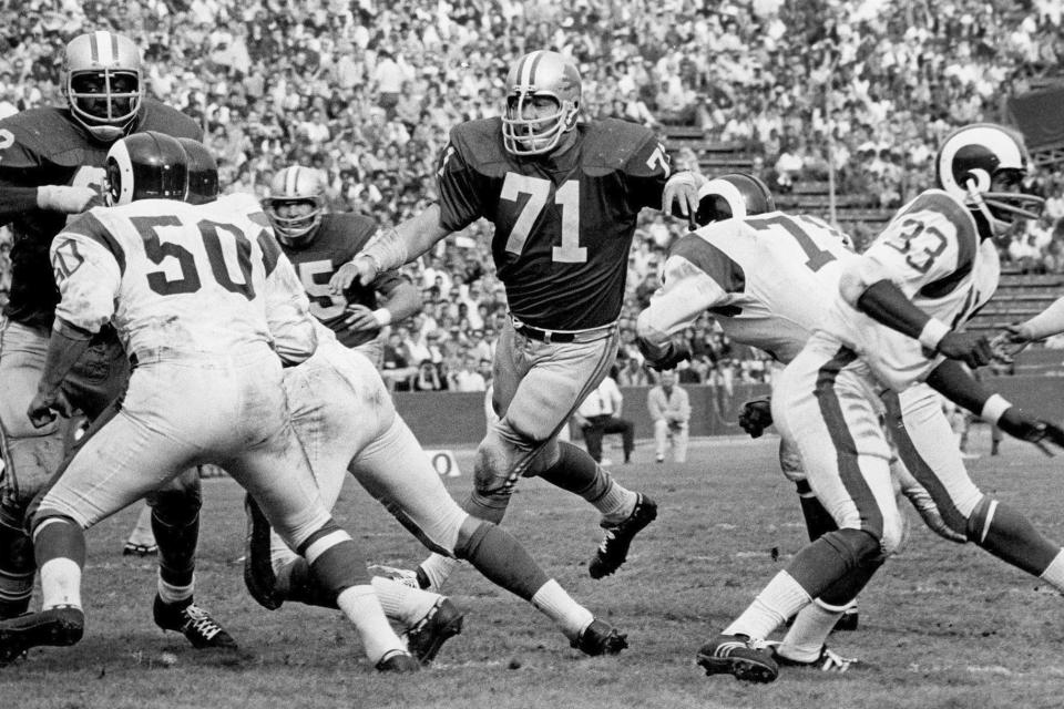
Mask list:
[[440,224],[439,205],[429,205],[420,214],[377,234],[365,249],[334,274],[329,290],[339,296],[356,278],[368,286],[379,274],[412,261],[449,234]]

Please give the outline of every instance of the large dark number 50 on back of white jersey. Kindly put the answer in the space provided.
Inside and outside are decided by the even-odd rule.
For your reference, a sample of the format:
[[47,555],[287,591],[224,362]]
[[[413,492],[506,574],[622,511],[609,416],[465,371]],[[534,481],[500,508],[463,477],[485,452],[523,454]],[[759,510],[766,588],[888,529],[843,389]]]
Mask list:
[[[163,242],[160,238],[158,229],[161,227],[182,227],[184,225],[181,219],[176,216],[131,217],[130,222],[133,223],[144,240],[144,253],[153,264],[160,266],[166,258],[177,260],[177,267],[181,271],[178,278],[168,278],[165,270],[147,274],[147,285],[152,290],[161,296],[200,290],[203,282],[198,270],[196,270],[196,260],[192,251],[181,244]],[[247,236],[233,225],[218,224],[208,219],[197,223],[196,228],[203,237],[204,250],[207,253],[207,261],[211,264],[211,273],[215,282],[229,292],[239,294],[248,300],[253,299],[255,288],[252,285],[252,243],[247,239]],[[236,254],[236,267],[243,277],[243,282],[233,280],[229,275],[229,263],[224,253],[222,233],[232,237],[227,238],[226,243],[233,245],[229,250]]]

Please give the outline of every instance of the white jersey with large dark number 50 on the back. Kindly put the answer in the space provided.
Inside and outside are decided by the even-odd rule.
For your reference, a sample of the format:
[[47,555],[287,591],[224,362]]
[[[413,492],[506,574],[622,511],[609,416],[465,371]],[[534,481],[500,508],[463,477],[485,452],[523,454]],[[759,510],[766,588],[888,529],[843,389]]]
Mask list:
[[225,353],[272,342],[272,330],[309,350],[296,361],[314,351],[306,294],[252,195],[91,209],[55,236],[51,258],[57,317],[89,332],[112,321],[129,352]]

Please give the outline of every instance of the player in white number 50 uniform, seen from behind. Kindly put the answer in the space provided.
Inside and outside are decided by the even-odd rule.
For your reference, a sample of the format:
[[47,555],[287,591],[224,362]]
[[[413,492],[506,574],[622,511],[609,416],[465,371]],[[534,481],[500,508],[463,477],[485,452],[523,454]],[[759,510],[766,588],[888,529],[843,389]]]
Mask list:
[[0,623],[0,662],[80,640],[84,530],[190,465],[214,463],[335,594],[377,669],[417,670],[365,559],[321,505],[288,420],[278,356],[298,363],[317,347],[306,295],[253,198],[180,202],[186,162],[161,133],[117,141],[106,162],[116,206],[53,239],[61,299],[30,420],[45,423],[68,405],[60,384],[104,322],[114,322],[133,372],[30,516],[42,610]]

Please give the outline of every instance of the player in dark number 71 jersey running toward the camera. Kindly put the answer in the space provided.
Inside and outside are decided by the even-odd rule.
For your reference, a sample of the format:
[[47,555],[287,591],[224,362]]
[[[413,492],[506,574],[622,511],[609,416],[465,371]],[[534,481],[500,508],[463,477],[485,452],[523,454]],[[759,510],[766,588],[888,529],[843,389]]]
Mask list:
[[[494,225],[491,249],[507,289],[508,319],[493,363],[500,419],[481,441],[466,510],[500,522],[522,476],[539,475],[602,514],[605,538],[593,578],[624,563],[635,535],[657,515],[645,495],[617,484],[559,430],[615,359],[628,250],[644,207],[693,216],[699,177],[672,174],[647,129],[580,122],[581,79],[564,55],[521,56],[505,81],[501,117],[451,130],[439,158],[439,204],[381,233],[330,281],[339,294],[371,282],[480,217]],[[433,555],[419,583],[438,588],[453,559]]]

